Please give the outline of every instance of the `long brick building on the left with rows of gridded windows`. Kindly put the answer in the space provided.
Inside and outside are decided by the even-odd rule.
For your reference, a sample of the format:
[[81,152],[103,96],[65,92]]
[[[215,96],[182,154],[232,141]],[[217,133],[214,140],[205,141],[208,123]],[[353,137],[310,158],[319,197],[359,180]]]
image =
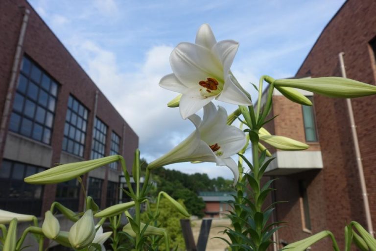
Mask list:
[[[77,181],[28,185],[57,163],[123,155],[138,136],[25,0],[0,1],[0,208],[44,215],[53,201],[82,209]],[[118,163],[84,176],[101,207],[118,201]],[[25,206],[27,205],[27,206]]]

